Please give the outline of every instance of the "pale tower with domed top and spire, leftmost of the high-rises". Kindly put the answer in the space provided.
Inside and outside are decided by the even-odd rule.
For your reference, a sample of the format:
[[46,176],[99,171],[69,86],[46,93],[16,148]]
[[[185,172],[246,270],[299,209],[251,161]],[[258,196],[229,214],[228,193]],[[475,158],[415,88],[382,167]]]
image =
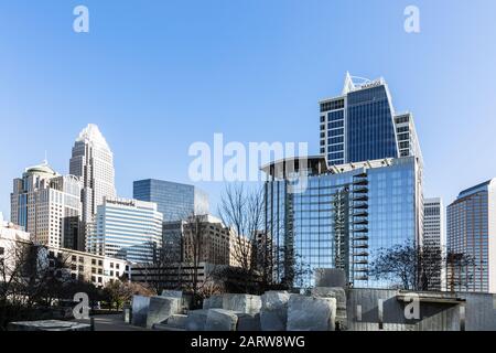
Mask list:
[[46,161],[28,168],[13,181],[11,221],[31,233],[37,244],[74,248],[80,214],[79,179],[60,175]]

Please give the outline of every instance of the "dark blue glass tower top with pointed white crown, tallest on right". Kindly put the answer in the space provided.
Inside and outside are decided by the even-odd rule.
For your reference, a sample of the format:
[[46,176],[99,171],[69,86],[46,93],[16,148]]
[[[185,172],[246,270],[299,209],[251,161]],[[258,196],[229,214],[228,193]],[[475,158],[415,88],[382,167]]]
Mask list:
[[320,101],[321,154],[328,165],[421,157],[410,113],[397,114],[384,78],[346,74],[341,96]]

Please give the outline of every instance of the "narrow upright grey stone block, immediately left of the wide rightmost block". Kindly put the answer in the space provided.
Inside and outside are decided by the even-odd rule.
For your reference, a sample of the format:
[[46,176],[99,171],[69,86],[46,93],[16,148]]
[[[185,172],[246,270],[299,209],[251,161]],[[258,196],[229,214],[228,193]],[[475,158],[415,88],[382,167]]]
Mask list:
[[284,331],[288,321],[287,291],[268,291],[261,296],[260,327],[262,331]]

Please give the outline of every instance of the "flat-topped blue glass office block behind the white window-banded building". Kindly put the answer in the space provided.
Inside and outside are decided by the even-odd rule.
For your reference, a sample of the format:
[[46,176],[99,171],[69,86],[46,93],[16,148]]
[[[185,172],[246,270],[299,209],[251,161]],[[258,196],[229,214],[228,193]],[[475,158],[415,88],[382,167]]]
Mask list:
[[208,213],[208,195],[187,184],[155,179],[134,181],[133,199],[157,203],[164,222]]

